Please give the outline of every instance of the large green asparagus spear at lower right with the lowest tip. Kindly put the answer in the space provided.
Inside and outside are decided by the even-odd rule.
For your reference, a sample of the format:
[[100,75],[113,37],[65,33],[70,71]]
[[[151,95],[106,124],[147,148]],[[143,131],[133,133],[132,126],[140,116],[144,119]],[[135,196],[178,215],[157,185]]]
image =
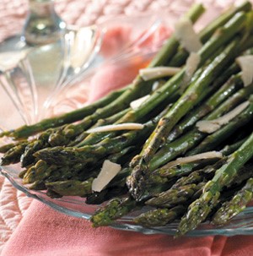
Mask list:
[[227,186],[234,180],[240,168],[253,156],[252,146],[253,133],[241,145],[240,149],[236,150],[229,157],[227,163],[218,169],[213,179],[207,182],[203,188],[201,197],[190,204],[186,215],[181,219],[180,225],[178,226],[178,236],[195,229],[196,226],[207,218],[213,207],[218,204],[220,192],[224,186]]

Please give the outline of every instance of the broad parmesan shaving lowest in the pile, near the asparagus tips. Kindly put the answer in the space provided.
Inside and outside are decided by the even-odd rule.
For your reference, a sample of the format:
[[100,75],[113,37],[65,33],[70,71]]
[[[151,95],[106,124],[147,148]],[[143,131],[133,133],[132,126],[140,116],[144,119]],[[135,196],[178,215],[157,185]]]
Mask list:
[[120,171],[121,165],[105,160],[98,177],[92,182],[92,190],[100,192]]

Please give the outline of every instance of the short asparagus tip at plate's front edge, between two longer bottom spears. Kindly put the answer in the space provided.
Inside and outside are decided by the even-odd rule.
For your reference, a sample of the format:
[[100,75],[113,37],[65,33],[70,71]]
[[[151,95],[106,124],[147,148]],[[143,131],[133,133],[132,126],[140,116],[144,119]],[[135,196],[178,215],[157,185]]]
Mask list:
[[142,226],[165,226],[176,219],[179,219],[181,215],[186,211],[186,207],[183,205],[177,205],[171,209],[159,208],[156,210],[149,210],[141,215],[138,215],[133,221]]

